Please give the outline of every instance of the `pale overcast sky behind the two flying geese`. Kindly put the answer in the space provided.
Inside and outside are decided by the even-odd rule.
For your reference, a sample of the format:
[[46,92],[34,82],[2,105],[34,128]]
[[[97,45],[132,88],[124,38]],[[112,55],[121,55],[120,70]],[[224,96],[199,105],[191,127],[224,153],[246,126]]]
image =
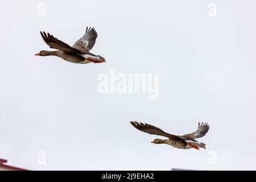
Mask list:
[[[216,16],[209,15],[213,6]],[[255,6],[234,0],[2,2],[0,158],[33,170],[255,170]],[[86,26],[98,32],[91,52],[106,63],[34,56],[50,49],[39,31],[72,46]],[[158,99],[100,94],[97,78],[111,69],[158,73]],[[134,129],[134,120],[172,134],[208,122],[199,139],[207,149],[152,144],[163,137]],[[46,154],[46,164],[39,154]]]

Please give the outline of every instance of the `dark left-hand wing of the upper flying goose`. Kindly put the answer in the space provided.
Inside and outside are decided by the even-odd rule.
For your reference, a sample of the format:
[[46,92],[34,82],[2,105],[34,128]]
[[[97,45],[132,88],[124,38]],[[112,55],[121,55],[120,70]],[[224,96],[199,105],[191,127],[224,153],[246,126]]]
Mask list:
[[65,53],[82,53],[76,48],[70,47],[68,44],[62,42],[61,40],[55,38],[54,36],[50,35],[49,33],[46,34],[46,32],[41,32],[42,38],[44,42],[50,47],[54,49],[59,49],[61,51],[64,51]]

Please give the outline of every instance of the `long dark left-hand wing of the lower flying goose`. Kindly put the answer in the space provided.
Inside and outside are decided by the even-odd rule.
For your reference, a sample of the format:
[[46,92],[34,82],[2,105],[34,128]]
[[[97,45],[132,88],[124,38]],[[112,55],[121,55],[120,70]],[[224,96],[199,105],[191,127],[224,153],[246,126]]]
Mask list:
[[131,121],[130,123],[138,130],[141,130],[141,131],[151,134],[151,135],[160,135],[163,137],[168,137],[170,139],[181,139],[180,137],[177,137],[176,135],[168,134],[168,133],[164,132],[163,130],[159,129],[158,127],[148,125],[147,123],[143,124],[143,123],[138,123],[136,121],[134,121],[134,122]]

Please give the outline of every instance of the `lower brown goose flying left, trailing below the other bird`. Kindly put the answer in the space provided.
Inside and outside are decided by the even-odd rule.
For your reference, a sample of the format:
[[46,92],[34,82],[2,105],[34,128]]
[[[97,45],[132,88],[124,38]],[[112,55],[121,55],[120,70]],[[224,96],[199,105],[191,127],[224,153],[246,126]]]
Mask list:
[[176,147],[176,148],[182,148],[182,149],[189,149],[189,148],[195,148],[196,150],[199,150],[199,147],[205,148],[204,143],[197,142],[195,140],[196,138],[204,137],[204,135],[209,130],[208,123],[199,123],[198,129],[190,134],[185,134],[182,136],[179,135],[172,135],[164,132],[163,130],[159,129],[158,127],[148,125],[147,123],[138,123],[136,121],[131,121],[131,125],[133,125],[138,130],[141,130],[145,133],[151,134],[151,135],[160,135],[163,137],[167,137],[168,139],[162,140],[162,139],[155,139],[151,143],[160,144],[160,143],[166,143],[170,146]]

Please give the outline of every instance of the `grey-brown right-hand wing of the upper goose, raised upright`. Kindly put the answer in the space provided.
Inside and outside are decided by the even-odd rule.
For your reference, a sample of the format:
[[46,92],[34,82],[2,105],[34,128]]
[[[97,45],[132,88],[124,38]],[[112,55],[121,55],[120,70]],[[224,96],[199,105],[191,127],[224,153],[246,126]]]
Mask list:
[[88,52],[90,51],[90,49],[93,48],[97,36],[98,34],[94,28],[86,27],[84,36],[82,36],[81,39],[77,40],[77,42],[72,47],[79,49],[82,52]]

